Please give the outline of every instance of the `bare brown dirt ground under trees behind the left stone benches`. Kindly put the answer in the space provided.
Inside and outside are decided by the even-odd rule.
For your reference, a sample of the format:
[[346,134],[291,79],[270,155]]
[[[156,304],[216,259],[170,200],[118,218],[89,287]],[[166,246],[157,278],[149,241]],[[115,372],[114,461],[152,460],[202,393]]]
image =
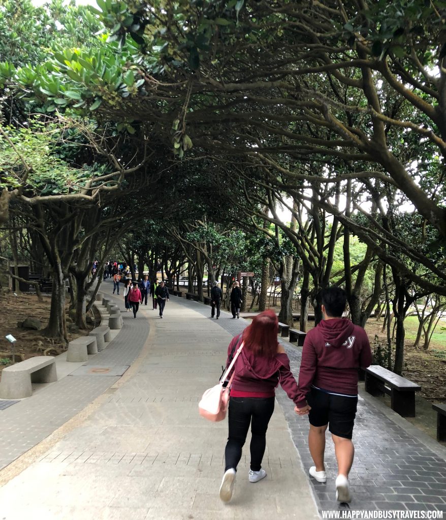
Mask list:
[[[4,309],[4,312],[0,314],[0,371],[12,362],[11,345],[5,339],[8,334],[12,334],[17,340],[15,343],[16,362],[34,356],[57,356],[65,351],[65,347],[44,337],[41,331],[17,327],[18,321],[30,317],[39,319],[42,322],[42,328],[44,328],[48,322],[50,302],[51,298],[45,295],[43,302],[39,302],[37,296],[33,294],[14,296],[11,292],[0,293],[0,306]],[[68,300],[66,311],[69,340],[88,334],[88,330],[80,331],[73,325],[68,316]],[[90,327],[93,328],[93,324]]]

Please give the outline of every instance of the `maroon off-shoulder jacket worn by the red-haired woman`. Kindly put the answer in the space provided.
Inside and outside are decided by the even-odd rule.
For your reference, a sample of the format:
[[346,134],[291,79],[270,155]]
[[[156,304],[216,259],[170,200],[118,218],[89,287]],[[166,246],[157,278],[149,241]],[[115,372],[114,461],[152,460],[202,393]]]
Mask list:
[[[240,334],[235,336],[228,346],[226,366],[229,366],[231,362],[230,355],[233,346],[236,345],[238,348],[239,338]],[[237,348],[234,350],[234,356]],[[233,370],[235,370],[235,375],[232,389],[240,392],[271,392],[274,395],[274,388],[280,383],[288,397],[296,402],[298,387],[286,354],[278,353],[273,358],[267,358],[256,356],[243,347]]]

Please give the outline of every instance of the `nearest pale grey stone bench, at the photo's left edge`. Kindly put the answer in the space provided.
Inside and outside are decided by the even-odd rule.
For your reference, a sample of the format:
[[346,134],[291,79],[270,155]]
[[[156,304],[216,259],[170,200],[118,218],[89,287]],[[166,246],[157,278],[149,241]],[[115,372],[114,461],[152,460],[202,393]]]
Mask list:
[[54,356],[36,356],[2,371],[0,382],[1,399],[22,399],[32,395],[31,383],[57,381]]

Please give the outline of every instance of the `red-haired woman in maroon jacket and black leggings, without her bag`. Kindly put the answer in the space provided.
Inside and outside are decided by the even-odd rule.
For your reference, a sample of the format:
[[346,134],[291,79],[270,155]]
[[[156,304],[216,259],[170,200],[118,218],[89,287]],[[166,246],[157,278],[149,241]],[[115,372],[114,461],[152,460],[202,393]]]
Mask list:
[[[235,336],[228,346],[228,367],[236,349],[244,343],[234,368],[229,399],[229,434],[225,448],[225,473],[220,487],[220,499],[231,500],[237,465],[251,425],[251,466],[249,482],[266,477],[262,459],[266,446],[266,430],[274,411],[274,388],[281,384],[288,397],[297,402],[299,392],[289,359],[277,342],[278,320],[272,310],[253,318],[251,324]],[[230,377],[231,374],[228,374]]]

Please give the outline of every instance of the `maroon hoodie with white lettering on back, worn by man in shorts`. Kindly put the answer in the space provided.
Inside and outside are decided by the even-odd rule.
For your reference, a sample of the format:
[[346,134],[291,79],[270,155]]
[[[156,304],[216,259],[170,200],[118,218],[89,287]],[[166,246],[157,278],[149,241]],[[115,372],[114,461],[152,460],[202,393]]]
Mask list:
[[329,392],[358,394],[358,369],[372,363],[365,330],[347,318],[322,320],[305,337],[297,407],[307,406],[311,385]]

